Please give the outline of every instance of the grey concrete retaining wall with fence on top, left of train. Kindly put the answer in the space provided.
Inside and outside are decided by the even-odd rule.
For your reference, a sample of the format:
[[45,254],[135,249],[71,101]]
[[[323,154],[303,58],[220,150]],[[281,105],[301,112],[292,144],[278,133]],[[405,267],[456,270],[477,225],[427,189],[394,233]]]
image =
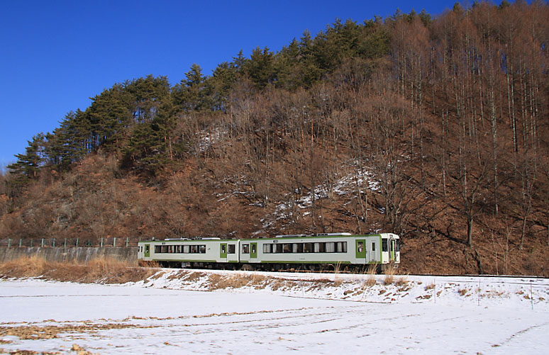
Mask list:
[[137,250],[137,247],[2,247],[0,248],[0,262],[37,255],[48,261],[76,260],[81,264],[105,257],[136,263]]

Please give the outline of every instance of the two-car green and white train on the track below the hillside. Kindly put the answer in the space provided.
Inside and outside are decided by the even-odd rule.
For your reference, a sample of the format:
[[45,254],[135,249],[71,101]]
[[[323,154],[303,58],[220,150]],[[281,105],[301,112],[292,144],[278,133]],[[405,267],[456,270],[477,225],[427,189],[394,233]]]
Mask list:
[[277,235],[274,238],[166,239],[139,242],[138,261],[165,267],[292,270],[380,268],[400,263],[399,236],[392,233],[351,235]]

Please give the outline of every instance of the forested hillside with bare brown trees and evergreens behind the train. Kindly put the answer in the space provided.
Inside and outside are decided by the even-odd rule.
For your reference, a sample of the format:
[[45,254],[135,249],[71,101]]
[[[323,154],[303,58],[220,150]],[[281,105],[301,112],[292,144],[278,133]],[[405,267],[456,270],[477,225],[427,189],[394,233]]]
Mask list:
[[0,239],[401,235],[408,272],[549,276],[549,6],[336,20],[114,84],[1,176]]

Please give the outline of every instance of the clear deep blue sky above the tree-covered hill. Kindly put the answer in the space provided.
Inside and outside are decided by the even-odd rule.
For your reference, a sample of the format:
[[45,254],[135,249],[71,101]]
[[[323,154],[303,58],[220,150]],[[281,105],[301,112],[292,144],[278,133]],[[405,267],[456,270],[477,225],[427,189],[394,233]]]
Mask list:
[[[462,1],[462,3],[464,3]],[[51,132],[69,111],[126,79],[166,75],[193,63],[204,74],[240,49],[280,50],[336,18],[359,23],[398,9],[436,16],[455,0],[416,1],[1,1],[0,168]]]

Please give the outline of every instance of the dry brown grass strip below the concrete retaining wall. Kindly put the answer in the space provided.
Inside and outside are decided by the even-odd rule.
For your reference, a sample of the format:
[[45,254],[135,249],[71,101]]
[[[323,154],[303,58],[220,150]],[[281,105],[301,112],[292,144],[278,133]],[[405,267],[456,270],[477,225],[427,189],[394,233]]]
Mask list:
[[0,277],[37,277],[80,283],[126,283],[140,281],[154,273],[113,258],[92,259],[87,264],[76,261],[47,261],[42,257],[23,257],[0,264]]

